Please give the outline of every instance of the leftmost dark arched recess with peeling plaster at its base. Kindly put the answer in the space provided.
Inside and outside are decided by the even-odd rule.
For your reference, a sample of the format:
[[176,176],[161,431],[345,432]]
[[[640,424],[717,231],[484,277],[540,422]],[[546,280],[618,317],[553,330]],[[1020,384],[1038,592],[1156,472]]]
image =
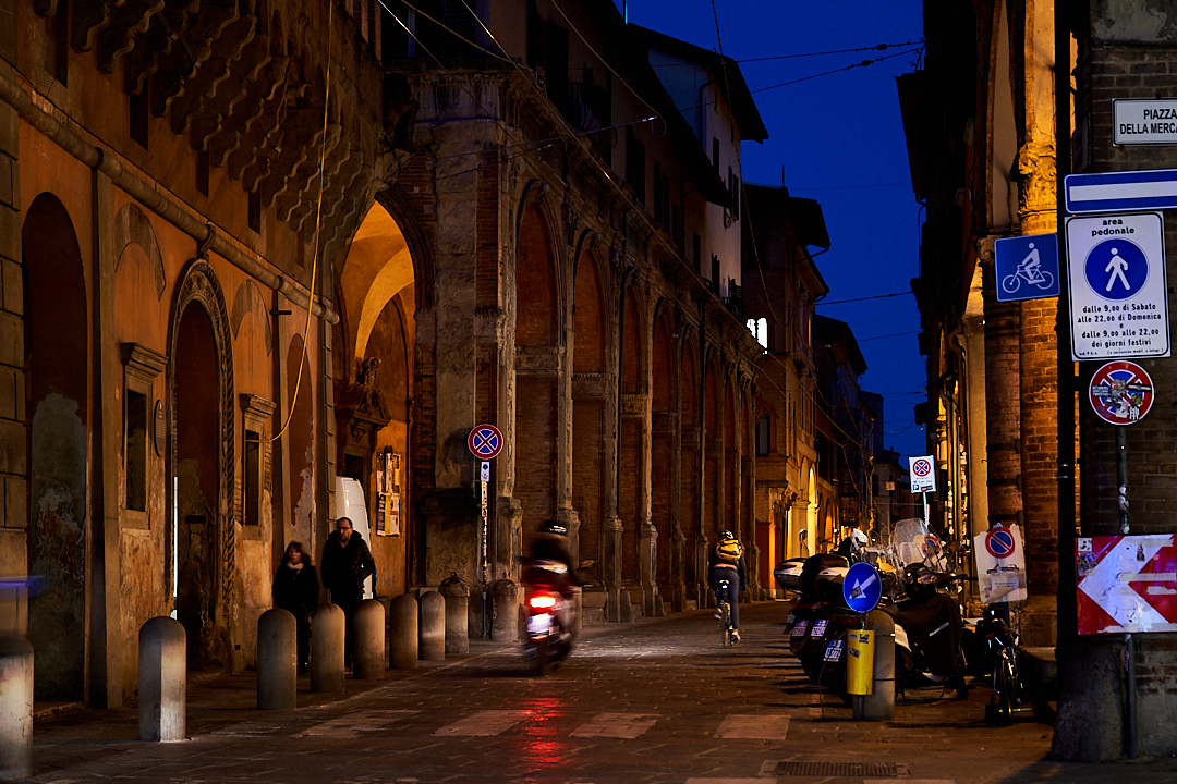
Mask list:
[[73,221],[41,194],[21,233],[28,574],[45,589],[28,605],[38,699],[82,699],[86,685],[88,319]]

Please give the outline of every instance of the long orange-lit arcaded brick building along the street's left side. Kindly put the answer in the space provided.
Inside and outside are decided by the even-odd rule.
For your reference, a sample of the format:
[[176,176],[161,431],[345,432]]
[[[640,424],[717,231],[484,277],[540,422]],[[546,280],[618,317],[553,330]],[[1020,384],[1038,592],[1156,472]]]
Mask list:
[[514,577],[556,517],[625,621],[753,538],[738,67],[604,0],[434,5],[0,0],[0,572],[45,576],[4,604],[39,696],[121,704],[172,611],[193,665],[252,663],[337,476],[379,596]]

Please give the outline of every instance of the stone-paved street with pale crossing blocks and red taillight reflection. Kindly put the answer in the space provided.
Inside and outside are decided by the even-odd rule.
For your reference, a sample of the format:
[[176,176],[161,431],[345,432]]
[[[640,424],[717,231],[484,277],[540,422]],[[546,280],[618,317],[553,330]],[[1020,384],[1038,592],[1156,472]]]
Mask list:
[[989,690],[911,696],[895,721],[853,722],[789,655],[786,605],[743,609],[744,642],[719,645],[705,610],[590,626],[546,678],[518,646],[472,652],[258,711],[253,672],[195,674],[184,743],[142,743],[138,712],[65,710],[35,722],[32,779],[401,782],[426,784],[1161,784],[1177,762],[1045,760],[1052,728],[983,722]]

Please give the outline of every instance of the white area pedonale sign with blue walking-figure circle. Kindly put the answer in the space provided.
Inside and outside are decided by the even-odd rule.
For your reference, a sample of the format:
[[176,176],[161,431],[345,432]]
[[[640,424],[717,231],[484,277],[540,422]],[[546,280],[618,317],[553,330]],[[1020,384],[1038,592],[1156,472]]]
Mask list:
[[1161,213],[1066,221],[1071,359],[1169,356]]

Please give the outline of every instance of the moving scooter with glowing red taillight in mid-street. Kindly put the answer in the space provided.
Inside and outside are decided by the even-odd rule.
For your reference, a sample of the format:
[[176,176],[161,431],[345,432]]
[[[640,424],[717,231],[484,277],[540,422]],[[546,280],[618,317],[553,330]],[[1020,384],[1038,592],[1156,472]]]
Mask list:
[[524,565],[524,657],[537,675],[546,675],[572,652],[577,631],[573,583],[567,565],[559,561],[533,559]]

